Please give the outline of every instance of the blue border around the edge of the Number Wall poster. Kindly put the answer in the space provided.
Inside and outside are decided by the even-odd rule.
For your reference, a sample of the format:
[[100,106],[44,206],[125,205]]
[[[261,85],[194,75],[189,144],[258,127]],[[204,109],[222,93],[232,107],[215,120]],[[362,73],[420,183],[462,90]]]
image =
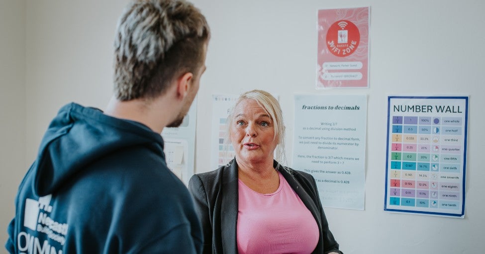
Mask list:
[[[388,160],[389,160],[389,121],[390,121],[390,100],[391,99],[460,99],[465,100],[465,136],[464,136],[464,150],[463,150],[463,182],[462,182],[462,212],[461,214],[453,213],[437,213],[437,212],[424,212],[424,211],[410,211],[400,209],[387,208],[388,200]],[[400,213],[414,213],[436,216],[450,216],[450,217],[463,217],[465,216],[465,182],[466,182],[466,168],[467,168],[467,140],[468,140],[468,96],[388,96],[388,121],[387,121],[387,141],[386,141],[386,180],[384,183],[384,211],[388,212],[400,212]]]

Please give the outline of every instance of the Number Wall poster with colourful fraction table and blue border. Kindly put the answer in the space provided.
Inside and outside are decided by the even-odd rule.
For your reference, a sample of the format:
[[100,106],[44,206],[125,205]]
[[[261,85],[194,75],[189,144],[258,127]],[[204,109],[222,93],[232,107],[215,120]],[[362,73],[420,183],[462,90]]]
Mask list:
[[389,212],[464,218],[467,97],[388,97]]

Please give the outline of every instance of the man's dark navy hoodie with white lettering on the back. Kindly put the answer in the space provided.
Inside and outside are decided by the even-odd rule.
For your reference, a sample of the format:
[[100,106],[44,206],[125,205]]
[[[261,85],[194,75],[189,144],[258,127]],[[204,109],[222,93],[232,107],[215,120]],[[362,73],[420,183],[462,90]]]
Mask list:
[[22,180],[10,253],[200,253],[186,186],[167,168],[159,133],[68,104]]

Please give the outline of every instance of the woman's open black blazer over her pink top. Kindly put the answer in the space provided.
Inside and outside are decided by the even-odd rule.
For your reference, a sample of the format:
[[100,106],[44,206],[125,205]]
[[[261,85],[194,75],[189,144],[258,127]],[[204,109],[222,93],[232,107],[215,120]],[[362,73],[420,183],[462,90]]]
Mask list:
[[[310,210],[320,230],[313,254],[341,253],[328,229],[327,219],[312,175],[291,168],[275,167]],[[236,159],[214,171],[195,174],[189,181],[195,211],[202,222],[203,254],[237,254],[238,166]]]

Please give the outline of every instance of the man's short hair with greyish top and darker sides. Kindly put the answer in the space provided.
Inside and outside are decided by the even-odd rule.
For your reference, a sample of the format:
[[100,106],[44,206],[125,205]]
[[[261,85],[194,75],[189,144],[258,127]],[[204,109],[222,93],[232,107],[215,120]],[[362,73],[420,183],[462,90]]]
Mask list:
[[190,2],[133,0],[118,21],[114,41],[116,98],[155,98],[180,75],[195,74],[209,36],[205,17]]

